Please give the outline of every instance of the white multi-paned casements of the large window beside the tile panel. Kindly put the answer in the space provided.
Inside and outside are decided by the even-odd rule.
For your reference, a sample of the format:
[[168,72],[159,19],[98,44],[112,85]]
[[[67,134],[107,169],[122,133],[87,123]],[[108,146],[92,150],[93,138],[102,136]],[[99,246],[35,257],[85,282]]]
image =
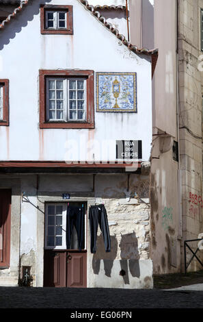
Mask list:
[[86,79],[46,79],[46,121],[86,121]]

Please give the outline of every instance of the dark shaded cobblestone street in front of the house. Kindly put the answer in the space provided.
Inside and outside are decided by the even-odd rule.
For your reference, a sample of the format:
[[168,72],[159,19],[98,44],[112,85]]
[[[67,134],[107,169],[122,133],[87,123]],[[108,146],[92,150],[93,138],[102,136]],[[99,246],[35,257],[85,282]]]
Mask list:
[[0,287],[0,308],[203,308],[203,291]]

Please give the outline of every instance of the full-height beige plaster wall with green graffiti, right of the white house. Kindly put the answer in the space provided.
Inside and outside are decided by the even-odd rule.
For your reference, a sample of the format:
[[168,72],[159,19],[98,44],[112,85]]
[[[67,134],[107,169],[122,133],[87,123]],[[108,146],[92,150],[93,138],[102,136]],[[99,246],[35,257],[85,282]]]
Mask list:
[[154,274],[161,274],[180,271],[180,170],[172,155],[178,141],[176,1],[154,1],[154,47],[159,59],[153,79],[150,255]]

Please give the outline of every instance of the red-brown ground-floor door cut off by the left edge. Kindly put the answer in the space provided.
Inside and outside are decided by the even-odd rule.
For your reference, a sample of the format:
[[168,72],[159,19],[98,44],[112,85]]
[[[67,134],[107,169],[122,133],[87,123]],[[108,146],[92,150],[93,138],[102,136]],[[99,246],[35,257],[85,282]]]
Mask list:
[[[3,218],[3,249],[2,256],[3,260],[0,262],[0,269],[8,269],[10,267],[10,230],[11,230],[11,195],[12,192],[10,189],[1,189],[0,193],[4,193],[4,203],[2,203],[1,207],[4,205],[8,205],[8,208],[3,208],[3,215],[6,218]],[[3,211],[2,211],[3,212]]]

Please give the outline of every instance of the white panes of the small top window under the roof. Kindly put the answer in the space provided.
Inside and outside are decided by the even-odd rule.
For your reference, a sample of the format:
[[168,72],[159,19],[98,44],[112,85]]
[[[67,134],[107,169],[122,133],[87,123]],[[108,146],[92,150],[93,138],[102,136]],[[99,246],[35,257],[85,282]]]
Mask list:
[[67,29],[67,12],[46,11],[46,29]]

